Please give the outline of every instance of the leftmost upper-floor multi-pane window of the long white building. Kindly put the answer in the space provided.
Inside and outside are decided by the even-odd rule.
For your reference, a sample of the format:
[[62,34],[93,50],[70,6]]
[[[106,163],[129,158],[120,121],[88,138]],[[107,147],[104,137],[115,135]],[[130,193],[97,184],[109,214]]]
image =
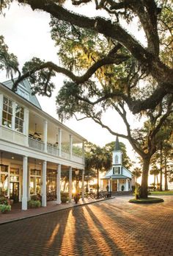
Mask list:
[[12,101],[6,97],[3,98],[2,124],[12,128]]

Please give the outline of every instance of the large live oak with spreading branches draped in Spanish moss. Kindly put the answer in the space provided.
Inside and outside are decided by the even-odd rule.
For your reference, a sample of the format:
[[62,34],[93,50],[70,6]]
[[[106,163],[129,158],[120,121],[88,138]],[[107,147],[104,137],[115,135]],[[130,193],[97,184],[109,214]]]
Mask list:
[[[2,1],[2,10],[9,2]],[[79,8],[76,12],[91,4],[97,13],[94,18],[73,13],[65,8],[66,1],[18,2],[51,14],[51,36],[62,65],[33,57],[21,74],[15,57],[10,57],[15,60],[10,65],[4,58],[2,65],[18,73],[13,90],[30,77],[34,93],[51,96],[55,86],[52,77],[65,74],[67,80],[57,96],[59,116],[70,118],[81,113],[112,134],[127,138],[143,160],[141,196],[147,197],[150,159],[157,151],[158,132],[172,113],[172,0],[71,1]],[[144,32],[144,41],[130,33],[134,24]],[[108,107],[122,117],[126,135],[103,124],[101,117]],[[128,111],[137,118],[143,112],[150,128],[143,134],[132,130]]]

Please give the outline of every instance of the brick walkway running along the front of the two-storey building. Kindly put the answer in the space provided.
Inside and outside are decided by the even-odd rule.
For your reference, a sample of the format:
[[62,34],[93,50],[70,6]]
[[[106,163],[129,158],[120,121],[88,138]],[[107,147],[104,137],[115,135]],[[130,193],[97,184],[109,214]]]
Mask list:
[[49,201],[47,202],[47,207],[40,207],[40,208],[29,208],[28,210],[21,210],[21,202],[12,205],[12,210],[10,213],[2,214],[0,213],[0,224],[4,224],[11,221],[18,221],[23,218],[31,218],[34,216],[40,216],[45,213],[52,213],[58,210],[67,209],[70,207],[76,207],[78,205],[87,205],[93,202],[103,201],[108,199],[80,199],[78,204],[72,202],[56,205],[56,201]]

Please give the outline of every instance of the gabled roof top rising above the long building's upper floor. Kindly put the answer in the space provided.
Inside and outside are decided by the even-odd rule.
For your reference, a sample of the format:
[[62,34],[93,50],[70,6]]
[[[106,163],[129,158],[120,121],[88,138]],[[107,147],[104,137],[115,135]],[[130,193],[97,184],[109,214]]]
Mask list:
[[[16,80],[16,78],[14,80]],[[2,84],[12,90],[12,80],[2,82]],[[40,103],[37,100],[37,97],[35,95],[32,95],[32,88],[28,79],[24,79],[22,82],[20,82],[18,84],[18,90],[14,93],[17,93],[23,99],[31,102],[32,104],[34,104],[34,106],[39,107],[40,110],[42,109]]]

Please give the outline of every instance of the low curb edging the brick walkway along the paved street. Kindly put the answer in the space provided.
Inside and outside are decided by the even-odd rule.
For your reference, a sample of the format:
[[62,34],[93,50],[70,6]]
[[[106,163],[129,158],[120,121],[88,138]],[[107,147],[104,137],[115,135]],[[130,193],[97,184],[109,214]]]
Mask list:
[[67,209],[70,209],[70,208],[80,207],[80,206],[84,206],[84,205],[91,205],[91,204],[95,204],[97,202],[103,202],[103,201],[114,199],[114,198],[115,198],[115,196],[112,196],[111,198],[100,199],[100,200],[94,201],[94,202],[85,202],[84,204],[81,204],[81,205],[76,204],[76,205],[73,205],[73,206],[66,207],[64,209],[51,210],[50,212],[37,213],[37,214],[35,214],[33,216],[26,216],[26,217],[21,217],[21,218],[15,218],[15,219],[12,219],[10,221],[4,221],[4,222],[0,223],[0,226],[4,225],[4,224],[11,223],[11,222],[15,222],[15,221],[23,221],[24,219],[27,219],[27,218],[34,218],[34,217],[42,216],[42,215],[49,214],[49,213],[60,212],[62,210],[67,210]]

